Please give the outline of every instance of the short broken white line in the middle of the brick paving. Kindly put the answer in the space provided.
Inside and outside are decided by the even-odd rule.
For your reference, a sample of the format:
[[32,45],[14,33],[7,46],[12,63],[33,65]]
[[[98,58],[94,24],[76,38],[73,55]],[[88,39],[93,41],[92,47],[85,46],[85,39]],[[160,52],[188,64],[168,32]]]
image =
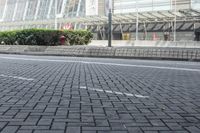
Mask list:
[[90,90],[90,91],[97,91],[97,92],[105,92],[105,93],[110,93],[110,94],[116,94],[116,95],[125,95],[128,97],[137,97],[137,98],[149,98],[149,96],[143,96],[140,94],[132,94],[132,93],[125,93],[125,92],[120,92],[120,91],[111,91],[111,90],[103,90],[103,89],[98,89],[98,88],[90,88],[86,86],[80,86],[80,89],[85,89],[85,90]]

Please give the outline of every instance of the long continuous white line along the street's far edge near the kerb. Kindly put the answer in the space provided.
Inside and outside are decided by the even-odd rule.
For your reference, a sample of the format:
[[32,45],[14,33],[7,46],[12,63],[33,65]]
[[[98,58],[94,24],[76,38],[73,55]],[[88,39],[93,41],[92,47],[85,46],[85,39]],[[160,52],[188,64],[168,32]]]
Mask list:
[[178,70],[200,72],[200,69],[181,68],[181,67],[162,67],[162,66],[149,66],[149,65],[133,65],[133,64],[118,64],[118,63],[104,63],[104,62],[88,62],[88,61],[74,61],[74,60],[52,60],[52,59],[34,59],[34,58],[17,58],[17,57],[0,57],[1,59],[10,60],[24,60],[24,61],[47,61],[47,62],[62,62],[62,63],[83,63],[83,64],[96,64],[96,65],[110,65],[121,67],[136,67],[136,68],[153,68],[163,70]]

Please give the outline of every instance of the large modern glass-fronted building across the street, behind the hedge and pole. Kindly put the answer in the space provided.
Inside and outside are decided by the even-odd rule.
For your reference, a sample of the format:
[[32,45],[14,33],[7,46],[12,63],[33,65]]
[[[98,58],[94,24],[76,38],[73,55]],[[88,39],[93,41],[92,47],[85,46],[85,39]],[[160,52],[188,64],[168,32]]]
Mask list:
[[200,0],[0,0],[0,30],[89,29],[103,40],[109,5],[113,39],[200,40]]

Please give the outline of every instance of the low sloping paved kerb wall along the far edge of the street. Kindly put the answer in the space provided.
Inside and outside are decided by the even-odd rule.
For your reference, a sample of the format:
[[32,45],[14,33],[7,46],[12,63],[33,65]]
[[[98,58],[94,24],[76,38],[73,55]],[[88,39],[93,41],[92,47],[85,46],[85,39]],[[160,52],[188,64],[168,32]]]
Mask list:
[[200,48],[172,47],[91,47],[91,46],[5,46],[0,53],[62,55],[111,58],[153,58],[174,60],[200,60]]

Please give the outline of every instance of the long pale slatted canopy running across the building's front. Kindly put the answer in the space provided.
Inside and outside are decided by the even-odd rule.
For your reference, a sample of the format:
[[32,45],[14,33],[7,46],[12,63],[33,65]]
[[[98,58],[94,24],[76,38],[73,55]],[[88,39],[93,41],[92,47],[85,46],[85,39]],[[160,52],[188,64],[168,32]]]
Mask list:
[[[176,20],[175,20],[176,16]],[[200,11],[187,9],[174,11],[152,11],[139,12],[139,23],[164,23],[164,22],[200,22]],[[114,14],[113,24],[134,24],[137,20],[137,13]],[[50,25],[54,24],[54,19],[50,20],[31,20],[31,21],[13,21],[0,22],[0,27],[7,26],[27,26],[27,25]],[[76,23],[87,26],[105,25],[108,21],[107,16],[87,16],[74,18],[58,18],[58,23]],[[159,29],[160,27],[157,26]]]

